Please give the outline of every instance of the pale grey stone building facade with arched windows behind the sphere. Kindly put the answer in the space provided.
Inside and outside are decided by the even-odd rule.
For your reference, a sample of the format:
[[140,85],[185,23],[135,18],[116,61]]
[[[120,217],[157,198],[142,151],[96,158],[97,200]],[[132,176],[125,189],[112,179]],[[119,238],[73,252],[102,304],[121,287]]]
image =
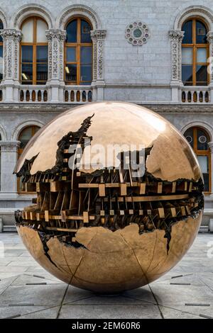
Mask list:
[[0,231],[33,197],[13,175],[22,147],[55,115],[91,101],[148,106],[197,140],[209,224],[213,0],[0,0],[0,28]]

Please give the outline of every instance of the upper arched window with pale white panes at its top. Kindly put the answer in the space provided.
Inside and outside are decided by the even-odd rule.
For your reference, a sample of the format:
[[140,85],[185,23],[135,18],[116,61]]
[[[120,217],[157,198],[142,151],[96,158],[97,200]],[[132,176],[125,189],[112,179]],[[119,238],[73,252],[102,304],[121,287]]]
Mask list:
[[39,17],[23,22],[21,31],[21,83],[45,84],[48,80],[47,23]]

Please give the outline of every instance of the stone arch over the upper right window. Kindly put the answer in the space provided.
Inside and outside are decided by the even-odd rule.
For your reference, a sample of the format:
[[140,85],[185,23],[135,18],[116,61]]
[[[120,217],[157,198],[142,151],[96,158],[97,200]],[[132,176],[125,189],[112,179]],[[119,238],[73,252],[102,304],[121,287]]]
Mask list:
[[184,23],[187,18],[196,16],[197,18],[202,18],[209,28],[209,30],[213,29],[213,11],[211,9],[208,9],[205,6],[190,6],[186,9],[180,11],[175,18],[174,23],[174,30],[181,30],[182,23]]

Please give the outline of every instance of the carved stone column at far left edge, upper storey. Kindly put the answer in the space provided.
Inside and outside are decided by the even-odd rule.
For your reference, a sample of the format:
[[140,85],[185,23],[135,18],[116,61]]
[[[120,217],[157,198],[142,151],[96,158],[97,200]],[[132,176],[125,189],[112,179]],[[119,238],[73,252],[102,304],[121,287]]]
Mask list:
[[5,87],[4,102],[18,101],[19,84],[19,45],[22,38],[21,30],[1,30],[4,41],[3,82]]

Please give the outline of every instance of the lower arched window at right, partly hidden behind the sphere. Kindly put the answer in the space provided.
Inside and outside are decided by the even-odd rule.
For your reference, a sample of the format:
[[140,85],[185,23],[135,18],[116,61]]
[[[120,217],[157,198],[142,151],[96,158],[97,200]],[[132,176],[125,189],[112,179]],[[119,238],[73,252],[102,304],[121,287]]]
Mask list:
[[209,135],[202,128],[189,128],[186,130],[184,136],[190,143],[192,149],[197,155],[200,169],[204,177],[204,191],[211,191],[211,159],[210,149],[208,142],[210,141]]

